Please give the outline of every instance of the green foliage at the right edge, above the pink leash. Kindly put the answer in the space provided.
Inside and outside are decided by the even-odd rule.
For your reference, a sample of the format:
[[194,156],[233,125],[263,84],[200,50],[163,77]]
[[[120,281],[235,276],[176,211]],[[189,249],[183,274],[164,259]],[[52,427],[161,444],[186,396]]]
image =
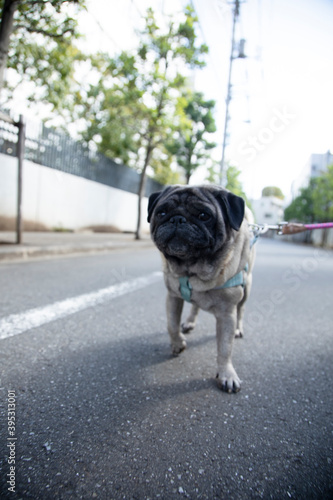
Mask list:
[[333,166],[320,177],[310,179],[309,185],[285,209],[284,217],[303,223],[333,220]]

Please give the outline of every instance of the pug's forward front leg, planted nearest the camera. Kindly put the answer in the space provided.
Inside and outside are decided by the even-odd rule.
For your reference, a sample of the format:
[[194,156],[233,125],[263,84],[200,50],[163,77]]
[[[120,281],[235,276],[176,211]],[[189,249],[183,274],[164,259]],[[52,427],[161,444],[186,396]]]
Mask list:
[[232,346],[237,321],[236,306],[230,306],[216,316],[217,384],[225,392],[238,392],[241,381],[231,361]]

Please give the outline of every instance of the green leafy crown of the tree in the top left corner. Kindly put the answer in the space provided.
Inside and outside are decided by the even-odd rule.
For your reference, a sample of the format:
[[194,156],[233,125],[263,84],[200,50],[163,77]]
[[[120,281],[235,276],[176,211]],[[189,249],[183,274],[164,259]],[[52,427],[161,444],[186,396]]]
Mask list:
[[[29,100],[68,108],[75,62],[83,59],[72,41],[84,7],[85,0],[0,0],[0,93],[9,68],[20,83],[34,83]],[[10,97],[13,88],[7,89]]]

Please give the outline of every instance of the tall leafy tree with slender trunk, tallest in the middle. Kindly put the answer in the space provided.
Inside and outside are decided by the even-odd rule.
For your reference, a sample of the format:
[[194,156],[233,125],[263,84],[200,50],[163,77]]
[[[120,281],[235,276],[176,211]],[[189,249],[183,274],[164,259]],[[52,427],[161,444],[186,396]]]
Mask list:
[[170,163],[165,143],[174,131],[177,98],[186,82],[184,69],[204,65],[208,49],[196,45],[196,24],[194,10],[187,7],[181,22],[170,21],[162,30],[149,9],[133,53],[111,60],[101,55],[95,61],[102,78],[91,86],[83,106],[83,116],[90,120],[85,137],[101,152],[141,172],[136,239],[147,169],[163,156]]

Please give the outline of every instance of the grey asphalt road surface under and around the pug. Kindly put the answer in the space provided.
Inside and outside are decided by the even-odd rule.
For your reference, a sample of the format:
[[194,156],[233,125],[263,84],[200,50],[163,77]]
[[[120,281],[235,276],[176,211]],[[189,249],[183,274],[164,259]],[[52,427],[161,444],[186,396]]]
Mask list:
[[0,497],[332,498],[332,256],[259,242],[231,395],[207,313],[171,357],[154,249],[0,265]]

